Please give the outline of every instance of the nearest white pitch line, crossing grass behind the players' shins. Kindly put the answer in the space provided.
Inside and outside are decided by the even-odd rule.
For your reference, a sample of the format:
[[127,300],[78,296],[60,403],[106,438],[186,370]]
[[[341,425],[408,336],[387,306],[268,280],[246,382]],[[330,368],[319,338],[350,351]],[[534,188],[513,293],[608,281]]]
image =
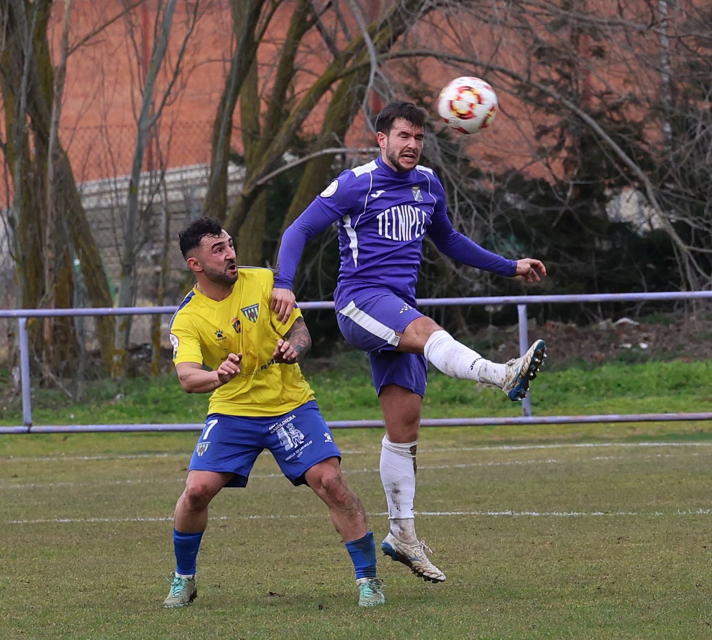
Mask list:
[[[387,512],[369,513],[370,518],[388,515]],[[446,517],[476,517],[476,518],[659,518],[678,515],[712,515],[712,509],[678,509],[676,511],[417,511],[416,515],[429,515],[434,518]],[[326,518],[319,515],[227,515],[211,516],[211,520],[302,520],[305,518]],[[171,522],[172,516],[157,516],[147,518],[42,518],[39,520],[6,520],[4,525],[73,525],[94,523],[162,523]]]

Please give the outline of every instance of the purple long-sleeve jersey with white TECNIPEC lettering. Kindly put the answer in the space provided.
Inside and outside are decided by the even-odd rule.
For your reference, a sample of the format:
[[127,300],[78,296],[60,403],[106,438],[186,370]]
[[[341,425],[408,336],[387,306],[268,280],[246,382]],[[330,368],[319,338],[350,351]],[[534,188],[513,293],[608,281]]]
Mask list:
[[516,262],[483,249],[456,231],[445,190],[432,169],[397,172],[377,158],[347,169],[284,232],[275,286],[293,288],[305,243],[337,223],[341,265],[337,309],[362,290],[385,287],[410,304],[428,234],[446,256],[469,266],[514,276]]

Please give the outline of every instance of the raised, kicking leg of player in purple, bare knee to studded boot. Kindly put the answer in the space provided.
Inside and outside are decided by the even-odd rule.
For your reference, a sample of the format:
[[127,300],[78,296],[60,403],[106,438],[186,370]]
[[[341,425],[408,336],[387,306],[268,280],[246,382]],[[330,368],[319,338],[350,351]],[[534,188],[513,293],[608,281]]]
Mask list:
[[477,380],[500,387],[510,400],[523,399],[546,358],[546,345],[536,340],[521,357],[499,364],[486,360],[454,339],[434,320],[422,316],[402,332],[398,351],[422,353],[434,366],[454,378]]

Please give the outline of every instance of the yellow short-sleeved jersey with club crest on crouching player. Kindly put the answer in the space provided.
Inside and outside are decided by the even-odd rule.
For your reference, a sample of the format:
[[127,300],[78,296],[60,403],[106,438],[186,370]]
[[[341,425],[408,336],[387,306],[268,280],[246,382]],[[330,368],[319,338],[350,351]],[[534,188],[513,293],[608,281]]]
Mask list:
[[277,364],[272,358],[277,340],[297,318],[286,324],[270,309],[274,284],[271,269],[239,267],[232,293],[212,300],[197,287],[184,298],[169,324],[173,362],[197,362],[217,369],[229,353],[241,353],[240,373],[216,389],[208,413],[230,416],[279,416],[314,399],[298,364]]

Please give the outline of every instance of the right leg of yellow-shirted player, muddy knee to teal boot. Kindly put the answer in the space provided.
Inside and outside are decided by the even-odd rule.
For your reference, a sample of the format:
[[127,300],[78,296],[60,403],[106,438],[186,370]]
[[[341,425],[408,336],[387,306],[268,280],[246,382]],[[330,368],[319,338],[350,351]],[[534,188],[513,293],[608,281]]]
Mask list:
[[376,573],[376,545],[367,530],[366,510],[361,500],[347,487],[339,458],[327,458],[310,467],[305,480],[329,508],[329,515],[341,535],[356,574],[360,607],[384,604],[383,581]]

